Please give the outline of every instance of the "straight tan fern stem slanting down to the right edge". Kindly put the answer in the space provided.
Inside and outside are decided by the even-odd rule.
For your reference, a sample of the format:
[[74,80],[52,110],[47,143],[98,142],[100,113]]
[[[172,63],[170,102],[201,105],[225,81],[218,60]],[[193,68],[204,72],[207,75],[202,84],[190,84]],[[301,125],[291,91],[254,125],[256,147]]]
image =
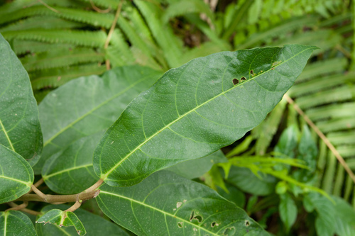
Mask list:
[[302,118],[305,119],[307,124],[310,125],[310,127],[312,127],[313,130],[315,130],[315,133],[317,133],[317,135],[320,136],[320,138],[327,145],[329,150],[331,152],[333,152],[334,156],[337,157],[339,163],[342,164],[342,166],[344,167],[345,171],[349,174],[350,178],[355,183],[354,173],[351,171],[351,169],[349,168],[348,164],[346,164],[346,162],[344,161],[344,158],[339,154],[337,149],[332,145],[332,143],[327,139],[327,137],[325,137],[325,135],[322,133],[322,131],[320,131],[320,129],[317,127],[317,125],[315,125],[315,123],[313,123],[312,120],[310,120],[310,118],[308,118],[308,116],[302,111],[302,109],[299,106],[297,106],[295,101],[293,101],[293,99],[291,99],[290,96],[288,96],[288,94],[285,94],[284,97],[288,101],[288,103],[293,105],[293,107],[295,108],[297,113],[299,113],[300,116],[302,116]]

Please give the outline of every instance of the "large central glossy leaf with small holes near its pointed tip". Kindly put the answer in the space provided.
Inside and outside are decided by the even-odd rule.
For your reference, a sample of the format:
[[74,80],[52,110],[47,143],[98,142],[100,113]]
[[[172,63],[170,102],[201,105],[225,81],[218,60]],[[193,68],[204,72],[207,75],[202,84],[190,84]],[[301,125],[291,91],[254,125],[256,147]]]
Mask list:
[[219,52],[170,69],[109,128],[94,171],[107,184],[130,186],[231,144],[266,117],[315,49]]

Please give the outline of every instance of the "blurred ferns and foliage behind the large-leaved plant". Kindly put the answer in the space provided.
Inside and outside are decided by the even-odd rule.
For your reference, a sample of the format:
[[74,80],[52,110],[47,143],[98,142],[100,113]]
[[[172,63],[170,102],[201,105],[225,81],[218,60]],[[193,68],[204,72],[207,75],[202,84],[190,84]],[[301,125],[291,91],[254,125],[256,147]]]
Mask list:
[[[350,1],[121,3],[109,45],[105,43],[120,8],[117,1],[15,0],[0,6],[0,33],[28,71],[38,103],[71,79],[102,74],[108,64],[111,68],[141,64],[165,72],[224,50],[316,45],[320,50],[288,95],[355,169],[354,6]],[[195,180],[244,207],[276,235],[351,235],[354,221],[344,215],[352,212],[345,201],[355,207],[354,181],[305,123],[292,104],[281,101],[261,125],[222,150],[229,158],[227,164],[215,165]],[[302,159],[309,170],[285,166],[284,157]],[[329,193],[344,208],[324,203],[327,198],[309,193],[310,186]],[[334,215],[339,215],[337,224],[329,222]]]

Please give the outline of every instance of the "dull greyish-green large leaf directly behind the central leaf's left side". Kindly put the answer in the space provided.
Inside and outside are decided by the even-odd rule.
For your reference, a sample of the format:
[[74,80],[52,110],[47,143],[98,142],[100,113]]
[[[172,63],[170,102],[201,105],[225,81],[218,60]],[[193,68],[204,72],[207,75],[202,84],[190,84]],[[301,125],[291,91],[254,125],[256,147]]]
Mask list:
[[102,77],[80,77],[50,92],[39,105],[44,148],[35,172],[75,140],[109,128],[127,104],[160,74],[148,67],[119,67]]

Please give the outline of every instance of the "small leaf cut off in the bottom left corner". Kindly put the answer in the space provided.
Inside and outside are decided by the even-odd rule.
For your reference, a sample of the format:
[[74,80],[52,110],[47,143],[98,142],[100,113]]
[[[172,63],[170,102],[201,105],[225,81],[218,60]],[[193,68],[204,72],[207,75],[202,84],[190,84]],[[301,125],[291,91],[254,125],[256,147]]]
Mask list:
[[37,235],[30,218],[18,210],[0,212],[0,233],[2,236]]

